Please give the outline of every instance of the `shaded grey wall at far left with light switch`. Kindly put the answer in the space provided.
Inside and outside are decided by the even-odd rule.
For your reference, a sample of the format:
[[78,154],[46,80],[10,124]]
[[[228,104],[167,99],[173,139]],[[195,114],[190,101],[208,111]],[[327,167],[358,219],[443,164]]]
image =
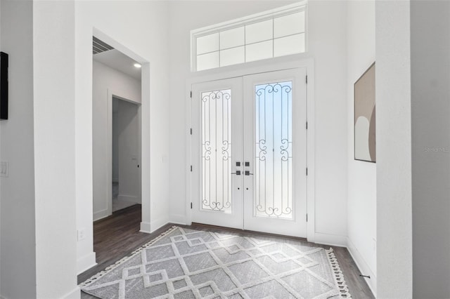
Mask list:
[[36,297],[32,1],[1,1],[1,51],[9,54],[9,119],[0,121],[0,296]]

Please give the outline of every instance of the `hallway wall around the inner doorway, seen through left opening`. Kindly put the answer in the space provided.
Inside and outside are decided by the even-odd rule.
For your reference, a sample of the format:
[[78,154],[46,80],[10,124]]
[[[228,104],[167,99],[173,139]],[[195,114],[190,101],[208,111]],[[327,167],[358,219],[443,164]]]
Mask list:
[[110,215],[108,212],[108,186],[107,175],[109,161],[108,151],[108,111],[112,111],[111,99],[108,91],[114,95],[134,102],[141,102],[141,82],[133,77],[112,69],[101,62],[94,60],[92,65],[92,153],[94,175],[94,220]]

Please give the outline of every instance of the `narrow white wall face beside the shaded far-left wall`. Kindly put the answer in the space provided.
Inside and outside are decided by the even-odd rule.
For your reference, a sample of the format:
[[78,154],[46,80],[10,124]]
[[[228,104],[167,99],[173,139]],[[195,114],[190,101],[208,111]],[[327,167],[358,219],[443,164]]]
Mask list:
[[33,35],[36,295],[76,298],[74,2],[34,1]]

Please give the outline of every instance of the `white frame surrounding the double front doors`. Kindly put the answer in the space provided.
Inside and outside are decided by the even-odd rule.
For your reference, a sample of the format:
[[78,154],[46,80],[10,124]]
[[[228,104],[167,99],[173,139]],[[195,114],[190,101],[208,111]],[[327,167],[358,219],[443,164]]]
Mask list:
[[[192,224],[191,202],[192,202],[192,180],[191,180],[191,86],[207,81],[220,79],[229,79],[233,77],[243,77],[250,74],[259,74],[263,72],[274,72],[283,69],[295,69],[304,67],[307,69],[307,240],[315,241],[315,104],[314,104],[314,59],[305,58],[291,62],[264,63],[259,67],[236,69],[222,71],[222,69],[212,69],[205,72],[199,72],[197,76],[193,76],[186,80],[186,224]],[[231,67],[229,69],[233,69]]]

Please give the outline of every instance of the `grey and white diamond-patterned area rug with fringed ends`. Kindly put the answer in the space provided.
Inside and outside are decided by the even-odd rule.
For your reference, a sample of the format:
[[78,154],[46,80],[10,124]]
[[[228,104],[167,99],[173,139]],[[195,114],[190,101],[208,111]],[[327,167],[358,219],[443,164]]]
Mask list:
[[98,298],[351,298],[333,249],[172,227],[80,284]]

